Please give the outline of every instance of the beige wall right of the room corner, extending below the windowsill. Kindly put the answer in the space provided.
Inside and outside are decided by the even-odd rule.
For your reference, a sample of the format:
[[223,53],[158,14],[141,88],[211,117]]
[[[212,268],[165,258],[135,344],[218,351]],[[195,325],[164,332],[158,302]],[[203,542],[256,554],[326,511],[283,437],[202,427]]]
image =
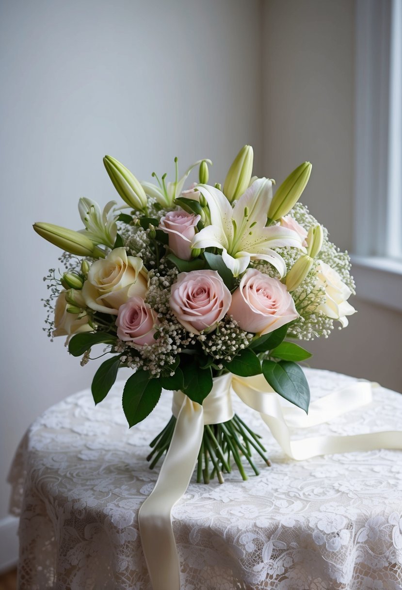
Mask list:
[[[301,200],[331,240],[351,251],[355,2],[267,0],[263,23],[263,172],[281,181],[310,160]],[[358,313],[346,330],[307,343],[311,366],[401,391],[402,314],[364,301],[366,295],[352,300]]]

